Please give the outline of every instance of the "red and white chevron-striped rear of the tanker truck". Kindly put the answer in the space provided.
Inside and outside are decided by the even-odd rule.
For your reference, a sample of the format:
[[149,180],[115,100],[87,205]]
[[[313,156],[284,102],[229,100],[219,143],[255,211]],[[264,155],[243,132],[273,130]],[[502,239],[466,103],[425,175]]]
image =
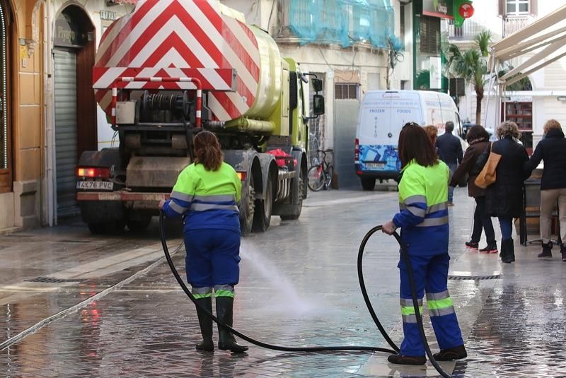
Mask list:
[[[235,74],[234,74],[235,72]],[[260,52],[252,30],[207,0],[142,0],[104,33],[93,88],[110,114],[108,89],[120,76],[194,77],[209,90],[208,106],[221,121],[254,104]],[[130,82],[129,89],[194,89],[192,83]]]

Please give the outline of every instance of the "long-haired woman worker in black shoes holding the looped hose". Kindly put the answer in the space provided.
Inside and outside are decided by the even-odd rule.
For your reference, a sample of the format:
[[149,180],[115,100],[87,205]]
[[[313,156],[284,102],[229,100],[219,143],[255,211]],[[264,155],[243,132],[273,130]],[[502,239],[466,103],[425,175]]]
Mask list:
[[[383,232],[393,234],[401,228],[415,278],[422,314],[422,297],[427,305],[440,352],[438,361],[466,358],[462,333],[448,293],[448,180],[449,167],[437,160],[434,146],[421,126],[410,122],[399,134],[399,157],[403,177],[399,182],[399,213],[383,225]],[[403,343],[400,353],[388,361],[403,365],[427,362],[422,344],[405,261],[400,259],[400,304],[403,315]]]

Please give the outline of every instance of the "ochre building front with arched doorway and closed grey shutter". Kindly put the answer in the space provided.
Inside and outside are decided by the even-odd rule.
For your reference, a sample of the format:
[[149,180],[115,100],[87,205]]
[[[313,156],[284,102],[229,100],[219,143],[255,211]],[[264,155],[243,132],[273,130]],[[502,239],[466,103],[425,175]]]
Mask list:
[[74,165],[100,140],[94,54],[123,2],[0,0],[0,230],[76,212]]

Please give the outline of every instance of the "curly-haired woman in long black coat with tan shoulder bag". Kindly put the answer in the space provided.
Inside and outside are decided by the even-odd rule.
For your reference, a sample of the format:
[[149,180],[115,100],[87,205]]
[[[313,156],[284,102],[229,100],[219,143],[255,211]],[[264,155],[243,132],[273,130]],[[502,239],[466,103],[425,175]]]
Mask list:
[[523,184],[529,177],[524,168],[529,155],[523,145],[518,143],[521,137],[514,122],[502,122],[495,129],[499,141],[493,142],[478,158],[481,167],[487,162],[490,151],[501,155],[495,170],[495,182],[487,187],[485,210],[487,215],[499,219],[501,228],[501,249],[499,256],[504,263],[515,261],[515,249],[512,239],[513,218],[519,218],[525,211],[523,205]]

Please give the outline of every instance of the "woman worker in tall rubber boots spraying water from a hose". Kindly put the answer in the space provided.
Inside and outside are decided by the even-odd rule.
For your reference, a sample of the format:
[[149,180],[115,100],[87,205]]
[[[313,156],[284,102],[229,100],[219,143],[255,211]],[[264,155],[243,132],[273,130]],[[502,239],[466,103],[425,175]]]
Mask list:
[[[234,286],[240,270],[240,221],[238,206],[242,184],[236,171],[224,163],[214,134],[201,131],[195,136],[195,162],[177,178],[171,198],[160,207],[168,217],[183,216],[185,269],[192,294],[202,307],[212,312],[212,291],[216,317],[232,326]],[[202,341],[198,350],[212,351],[212,319],[197,306]],[[242,353],[233,334],[218,327],[220,350]]]

